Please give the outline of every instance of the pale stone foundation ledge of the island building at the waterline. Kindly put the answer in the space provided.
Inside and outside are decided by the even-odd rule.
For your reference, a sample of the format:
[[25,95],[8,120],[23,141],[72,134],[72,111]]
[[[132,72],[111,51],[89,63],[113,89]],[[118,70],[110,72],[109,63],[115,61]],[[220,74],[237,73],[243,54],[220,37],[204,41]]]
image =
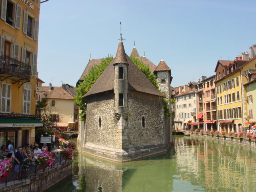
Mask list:
[[166,151],[167,148],[164,144],[140,146],[128,149],[115,149],[86,143],[86,146],[83,147],[83,152],[85,153],[117,162],[131,161]]

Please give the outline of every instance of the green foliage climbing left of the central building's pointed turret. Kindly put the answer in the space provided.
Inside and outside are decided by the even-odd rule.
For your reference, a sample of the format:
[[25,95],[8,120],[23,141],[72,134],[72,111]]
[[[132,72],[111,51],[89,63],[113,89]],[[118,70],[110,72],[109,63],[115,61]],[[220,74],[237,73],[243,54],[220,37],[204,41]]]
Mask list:
[[88,74],[84,76],[84,81],[80,83],[77,88],[75,88],[77,94],[76,96],[74,96],[74,100],[78,105],[79,109],[82,110],[82,112],[79,114],[81,121],[84,120],[84,115],[86,113],[86,99],[82,98],[82,96],[84,96],[84,94],[86,94],[90,90],[90,88],[93,86],[93,84],[100,77],[100,75],[103,73],[103,71],[112,60],[113,56],[108,55],[101,61],[100,65],[96,65],[90,68]]

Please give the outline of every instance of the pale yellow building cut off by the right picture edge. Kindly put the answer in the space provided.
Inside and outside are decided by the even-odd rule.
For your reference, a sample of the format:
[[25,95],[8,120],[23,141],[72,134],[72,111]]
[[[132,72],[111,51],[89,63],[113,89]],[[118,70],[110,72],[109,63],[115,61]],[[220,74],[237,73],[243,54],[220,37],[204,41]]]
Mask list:
[[242,84],[244,115],[247,117],[244,122],[244,127],[250,128],[256,122],[256,56],[242,67]]

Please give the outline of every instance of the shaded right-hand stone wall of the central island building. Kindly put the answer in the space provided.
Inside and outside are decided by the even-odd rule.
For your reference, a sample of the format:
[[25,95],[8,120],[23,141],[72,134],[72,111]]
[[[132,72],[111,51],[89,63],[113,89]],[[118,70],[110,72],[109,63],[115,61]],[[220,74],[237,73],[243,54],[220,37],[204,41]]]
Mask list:
[[[146,127],[142,128],[142,116]],[[142,92],[128,92],[127,142],[123,148],[147,146],[164,143],[164,112],[162,98]]]

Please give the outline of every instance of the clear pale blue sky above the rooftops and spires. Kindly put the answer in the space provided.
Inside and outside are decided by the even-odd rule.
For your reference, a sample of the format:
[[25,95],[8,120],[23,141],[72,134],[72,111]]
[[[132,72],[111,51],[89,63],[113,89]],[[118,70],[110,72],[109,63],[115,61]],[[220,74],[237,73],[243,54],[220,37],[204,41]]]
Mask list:
[[[41,0],[42,1],[42,0]],[[255,0],[49,0],[40,7],[38,72],[43,86],[76,86],[90,58],[116,55],[120,24],[128,55],[172,71],[172,87],[212,76],[256,44]]]

